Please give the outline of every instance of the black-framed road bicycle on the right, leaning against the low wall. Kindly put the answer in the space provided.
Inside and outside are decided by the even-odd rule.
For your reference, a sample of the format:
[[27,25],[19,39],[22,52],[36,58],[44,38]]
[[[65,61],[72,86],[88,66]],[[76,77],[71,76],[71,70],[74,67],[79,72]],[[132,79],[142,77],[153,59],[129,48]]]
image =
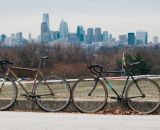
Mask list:
[[[124,70],[104,72],[100,65],[88,65],[94,78],[80,78],[74,84],[72,88],[73,104],[81,112],[97,112],[107,103],[108,87],[116,95],[111,96],[111,100],[126,103],[138,113],[149,114],[154,112],[160,105],[160,88],[155,81],[149,78],[135,78],[133,76],[133,67],[138,64],[140,62],[129,63],[128,72]],[[104,77],[104,74],[126,75],[122,93],[118,93],[114,89],[111,81]]]

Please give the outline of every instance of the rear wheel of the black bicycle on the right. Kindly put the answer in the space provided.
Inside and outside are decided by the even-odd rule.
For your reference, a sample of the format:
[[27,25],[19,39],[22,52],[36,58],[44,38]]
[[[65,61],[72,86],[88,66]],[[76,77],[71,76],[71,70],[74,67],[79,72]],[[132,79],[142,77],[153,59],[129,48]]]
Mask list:
[[139,78],[131,82],[126,90],[129,107],[139,113],[149,114],[160,105],[160,88],[158,84],[148,78]]

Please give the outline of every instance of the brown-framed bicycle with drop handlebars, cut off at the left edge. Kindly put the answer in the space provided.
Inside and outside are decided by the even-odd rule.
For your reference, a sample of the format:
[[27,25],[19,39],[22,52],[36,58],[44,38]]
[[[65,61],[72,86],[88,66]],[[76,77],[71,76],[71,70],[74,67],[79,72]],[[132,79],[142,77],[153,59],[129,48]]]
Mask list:
[[[0,110],[6,110],[15,103],[18,85],[24,90],[20,96],[34,100],[44,111],[57,112],[66,108],[71,99],[70,85],[61,77],[52,74],[45,77],[40,71],[42,61],[48,58],[48,56],[41,57],[37,69],[16,67],[13,66],[12,61],[0,60],[0,66],[3,70],[3,74],[0,75]],[[14,70],[26,70],[35,73],[31,92],[19,80]]]

